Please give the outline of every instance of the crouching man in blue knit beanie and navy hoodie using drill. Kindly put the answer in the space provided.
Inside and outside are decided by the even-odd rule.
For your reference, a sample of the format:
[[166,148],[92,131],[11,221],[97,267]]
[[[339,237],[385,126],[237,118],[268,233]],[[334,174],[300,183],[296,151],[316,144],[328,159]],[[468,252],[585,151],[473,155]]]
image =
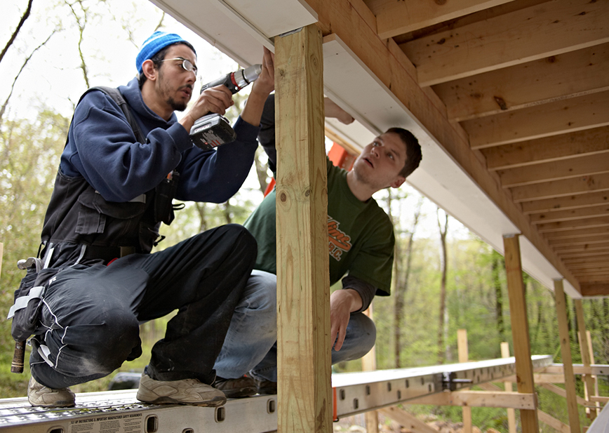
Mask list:
[[[235,142],[211,151],[193,146],[189,131],[208,112],[225,114],[232,93],[225,86],[208,88],[187,109],[196,53],[178,34],[154,32],[146,39],[135,59],[138,76],[126,86],[83,95],[69,126],[39,257],[23,265],[27,277],[11,309],[13,338],[34,334],[27,391],[32,406],[74,406],[69,386],[140,357],[139,324],[176,310],[152,348],[138,399],[225,403],[225,394],[211,386],[213,366],[252,270],[255,240],[240,225],[225,225],[151,250],[163,239],[161,222],[173,220],[173,198],[222,203],[241,187],[274,89],[273,62],[265,49],[262,74],[234,124]],[[185,109],[178,121],[175,110]]]

